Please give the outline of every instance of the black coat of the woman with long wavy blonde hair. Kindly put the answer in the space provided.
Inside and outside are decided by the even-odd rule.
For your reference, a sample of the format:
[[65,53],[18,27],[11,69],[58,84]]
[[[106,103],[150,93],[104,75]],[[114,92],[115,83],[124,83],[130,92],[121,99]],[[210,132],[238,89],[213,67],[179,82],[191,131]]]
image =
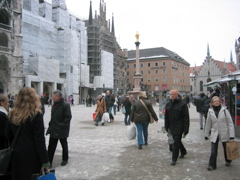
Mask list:
[[[11,141],[18,128],[19,126],[8,123],[7,132]],[[49,162],[41,113],[37,113],[32,120],[29,118],[21,125],[13,149],[12,180],[30,180],[32,174],[40,172],[42,164]]]

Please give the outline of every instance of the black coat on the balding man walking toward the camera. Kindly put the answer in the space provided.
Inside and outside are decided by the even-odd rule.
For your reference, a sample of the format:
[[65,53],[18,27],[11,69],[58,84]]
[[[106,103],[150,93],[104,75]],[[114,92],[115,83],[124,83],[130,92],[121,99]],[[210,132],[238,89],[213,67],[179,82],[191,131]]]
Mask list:
[[189,131],[189,113],[187,104],[178,98],[174,102],[169,101],[166,105],[165,128],[172,135],[188,134]]

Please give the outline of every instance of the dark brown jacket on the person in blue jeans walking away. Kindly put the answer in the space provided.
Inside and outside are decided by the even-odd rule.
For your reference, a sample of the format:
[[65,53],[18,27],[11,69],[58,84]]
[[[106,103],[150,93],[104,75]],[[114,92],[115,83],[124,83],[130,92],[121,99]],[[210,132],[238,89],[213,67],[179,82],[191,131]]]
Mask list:
[[[142,99],[142,101],[146,104],[148,110],[152,114],[153,119],[157,121],[158,117],[155,111],[153,110],[151,102],[147,99]],[[133,122],[150,122],[150,116],[144,105],[139,100],[135,101],[135,104],[132,107],[130,117],[131,121]]]

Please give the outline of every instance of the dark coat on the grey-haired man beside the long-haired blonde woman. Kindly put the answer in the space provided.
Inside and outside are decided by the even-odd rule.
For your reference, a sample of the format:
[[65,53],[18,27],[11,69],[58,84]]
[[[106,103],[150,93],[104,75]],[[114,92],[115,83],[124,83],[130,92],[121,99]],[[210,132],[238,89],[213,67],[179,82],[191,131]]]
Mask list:
[[51,138],[67,138],[69,136],[71,119],[70,105],[64,102],[63,98],[58,102],[54,102],[47,134],[50,134]]

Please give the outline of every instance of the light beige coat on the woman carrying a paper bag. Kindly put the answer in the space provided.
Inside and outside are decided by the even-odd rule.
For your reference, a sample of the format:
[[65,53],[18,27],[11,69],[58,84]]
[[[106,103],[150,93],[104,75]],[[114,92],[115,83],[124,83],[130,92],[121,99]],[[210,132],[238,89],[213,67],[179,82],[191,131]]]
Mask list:
[[212,108],[209,109],[205,127],[205,137],[209,137],[210,130],[210,140],[213,143],[216,142],[218,135],[219,140],[222,142],[227,142],[230,140],[230,137],[235,137],[233,121],[229,111],[225,107],[221,107],[218,118],[214,110]]

